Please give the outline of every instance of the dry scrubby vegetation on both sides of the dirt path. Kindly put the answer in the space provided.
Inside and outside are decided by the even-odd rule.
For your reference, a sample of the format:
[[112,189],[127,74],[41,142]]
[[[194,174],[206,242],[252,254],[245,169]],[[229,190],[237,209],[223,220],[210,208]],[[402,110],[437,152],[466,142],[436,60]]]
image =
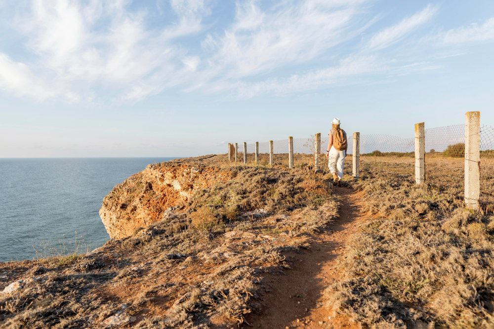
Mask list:
[[[310,155],[267,154],[255,165],[205,156],[161,164],[227,173],[170,207],[131,237],[84,256],[0,263],[2,328],[230,328],[256,312],[264,273],[283,274],[285,251],[309,248],[336,216],[336,199]],[[409,156],[363,156],[354,181],[371,220],[347,246],[345,276],[327,305],[369,328],[493,328],[493,203],[463,208],[463,160],[429,156],[427,183],[413,182]],[[485,164],[482,164],[485,166]],[[484,167],[485,169],[485,167]],[[482,168],[481,168],[482,170]],[[483,189],[493,185],[483,181]],[[492,191],[492,189],[491,189]],[[161,213],[160,213],[161,214]],[[68,255],[70,256],[70,255]]]

